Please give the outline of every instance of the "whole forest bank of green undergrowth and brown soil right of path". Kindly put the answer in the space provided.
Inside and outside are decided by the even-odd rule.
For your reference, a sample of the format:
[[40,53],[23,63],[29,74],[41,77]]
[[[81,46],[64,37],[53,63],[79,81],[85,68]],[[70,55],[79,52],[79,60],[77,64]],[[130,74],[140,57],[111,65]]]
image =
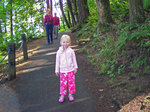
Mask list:
[[87,54],[98,78],[107,77],[112,97],[120,107],[144,94],[138,100],[141,108],[150,93],[150,15],[147,16],[144,23],[120,22],[102,31],[97,31],[96,20],[89,18],[86,24],[72,29],[82,47],[80,52]]

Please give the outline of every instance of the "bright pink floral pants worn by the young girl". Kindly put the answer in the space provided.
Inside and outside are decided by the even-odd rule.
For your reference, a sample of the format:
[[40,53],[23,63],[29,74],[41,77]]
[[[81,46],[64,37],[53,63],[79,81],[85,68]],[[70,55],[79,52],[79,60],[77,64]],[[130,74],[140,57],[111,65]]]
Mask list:
[[60,95],[67,95],[67,83],[69,94],[74,94],[76,91],[74,71],[60,73]]

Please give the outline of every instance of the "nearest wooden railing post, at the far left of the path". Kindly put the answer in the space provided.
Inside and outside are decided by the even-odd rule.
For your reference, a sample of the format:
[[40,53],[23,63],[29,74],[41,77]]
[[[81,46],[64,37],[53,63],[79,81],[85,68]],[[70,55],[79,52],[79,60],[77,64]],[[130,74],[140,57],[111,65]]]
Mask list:
[[8,44],[8,50],[9,50],[8,66],[10,67],[8,70],[8,80],[12,80],[16,78],[15,44],[14,43]]

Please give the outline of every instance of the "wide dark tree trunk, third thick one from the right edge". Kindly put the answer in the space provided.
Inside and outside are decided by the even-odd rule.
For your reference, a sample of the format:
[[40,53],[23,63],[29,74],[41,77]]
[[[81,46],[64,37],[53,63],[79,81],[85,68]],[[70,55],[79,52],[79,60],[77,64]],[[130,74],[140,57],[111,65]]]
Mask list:
[[79,22],[83,22],[89,16],[87,0],[78,0]]

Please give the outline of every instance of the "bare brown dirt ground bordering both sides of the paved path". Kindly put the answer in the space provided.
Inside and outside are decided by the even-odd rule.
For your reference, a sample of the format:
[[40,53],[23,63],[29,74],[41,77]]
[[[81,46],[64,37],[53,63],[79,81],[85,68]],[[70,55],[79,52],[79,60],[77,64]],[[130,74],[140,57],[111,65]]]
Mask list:
[[[76,44],[76,40],[73,34],[70,34],[72,37],[72,43]],[[32,55],[36,55],[38,49],[40,48],[40,43],[46,42],[46,38],[36,39],[32,42],[28,42],[28,51],[29,57]],[[79,46],[79,49],[82,46]],[[23,57],[21,56],[21,51],[16,53],[17,57],[17,72],[22,67],[25,67],[27,63],[21,64]],[[77,62],[79,69],[85,74],[86,82],[88,83],[89,90],[92,92],[92,95],[95,97],[97,101],[97,106],[99,112],[150,112],[150,104],[146,103],[146,107],[143,110],[140,110],[141,102],[144,101],[144,98],[148,96],[150,90],[148,89],[146,92],[142,91],[141,93],[134,95],[128,95],[127,98],[124,96],[125,87],[130,86],[128,84],[122,85],[122,89],[117,91],[116,86],[119,82],[114,82],[113,85],[109,83],[109,78],[100,75],[98,70],[94,68],[89,59],[87,58],[87,54],[76,52]],[[147,76],[148,79],[149,76]],[[137,79],[138,83],[141,78]],[[137,80],[131,80],[133,83],[136,83]],[[142,79],[144,80],[144,79]],[[122,84],[122,83],[121,83]],[[149,81],[146,81],[146,85],[149,84]],[[143,84],[144,85],[144,84]],[[114,89],[115,87],[115,89]],[[133,88],[134,89],[134,88]],[[126,91],[128,93],[128,91]]]

